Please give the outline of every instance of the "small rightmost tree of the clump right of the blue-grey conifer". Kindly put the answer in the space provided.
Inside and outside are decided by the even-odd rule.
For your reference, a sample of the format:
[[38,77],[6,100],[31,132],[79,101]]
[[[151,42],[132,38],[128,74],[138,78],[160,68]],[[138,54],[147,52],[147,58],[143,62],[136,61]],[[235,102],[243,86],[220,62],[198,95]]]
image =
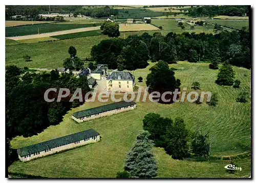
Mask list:
[[207,142],[208,134],[203,135],[197,132],[194,135],[194,138],[191,142],[191,151],[196,156],[204,156],[205,158],[209,158],[210,154],[210,144]]

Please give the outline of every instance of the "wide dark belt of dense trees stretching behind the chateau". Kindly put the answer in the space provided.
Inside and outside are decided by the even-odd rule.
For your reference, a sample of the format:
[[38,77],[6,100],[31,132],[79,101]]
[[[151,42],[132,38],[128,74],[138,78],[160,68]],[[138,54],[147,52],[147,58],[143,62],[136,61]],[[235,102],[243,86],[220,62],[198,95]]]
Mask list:
[[108,64],[110,69],[117,69],[119,65],[118,69],[134,70],[145,68],[148,59],[173,64],[178,60],[213,62],[216,58],[220,63],[229,60],[231,65],[250,69],[249,31],[222,31],[215,35],[170,32],[166,36],[156,32],[126,39],[112,38],[94,45],[90,59],[97,64]]

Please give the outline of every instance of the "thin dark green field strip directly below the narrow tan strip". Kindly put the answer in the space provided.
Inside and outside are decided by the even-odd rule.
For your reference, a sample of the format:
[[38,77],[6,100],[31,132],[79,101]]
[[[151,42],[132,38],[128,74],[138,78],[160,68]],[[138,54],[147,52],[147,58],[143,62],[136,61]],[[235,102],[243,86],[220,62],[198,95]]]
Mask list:
[[59,36],[52,36],[51,38],[56,39],[73,39],[73,38],[80,38],[80,37],[89,37],[89,36],[99,36],[101,34],[101,30],[96,31],[86,31],[86,32],[80,32],[80,33],[72,33],[72,34],[63,34]]

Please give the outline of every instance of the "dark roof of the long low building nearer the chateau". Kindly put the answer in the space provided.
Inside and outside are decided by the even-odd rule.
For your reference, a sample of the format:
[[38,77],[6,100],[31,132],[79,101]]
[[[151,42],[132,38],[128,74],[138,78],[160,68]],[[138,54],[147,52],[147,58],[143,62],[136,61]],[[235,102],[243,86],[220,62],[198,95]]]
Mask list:
[[81,118],[81,117],[85,117],[85,116],[94,115],[97,113],[102,113],[102,112],[106,112],[106,111],[115,110],[118,108],[123,108],[125,106],[130,106],[133,104],[136,104],[136,102],[134,102],[134,101],[130,101],[130,102],[119,101],[119,102],[115,102],[115,103],[106,104],[104,106],[99,106],[96,108],[78,111],[78,112],[73,113],[72,116],[74,116],[76,118]]

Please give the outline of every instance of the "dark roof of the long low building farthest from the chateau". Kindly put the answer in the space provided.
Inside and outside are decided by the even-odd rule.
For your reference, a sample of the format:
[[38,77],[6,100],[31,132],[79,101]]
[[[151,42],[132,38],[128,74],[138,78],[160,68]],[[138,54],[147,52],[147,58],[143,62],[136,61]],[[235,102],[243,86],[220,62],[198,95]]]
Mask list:
[[25,156],[25,155],[33,154],[35,152],[44,151],[44,150],[50,149],[50,148],[52,149],[57,146],[66,145],[69,143],[73,143],[75,141],[83,140],[83,139],[98,136],[98,135],[99,135],[99,133],[96,132],[94,129],[87,129],[87,130],[84,130],[82,132],[78,132],[75,134],[71,134],[71,135],[67,135],[64,137],[59,137],[59,138],[52,139],[49,141],[45,141],[45,142],[41,142],[38,144],[19,148],[19,149],[17,149],[17,153],[20,156]]

